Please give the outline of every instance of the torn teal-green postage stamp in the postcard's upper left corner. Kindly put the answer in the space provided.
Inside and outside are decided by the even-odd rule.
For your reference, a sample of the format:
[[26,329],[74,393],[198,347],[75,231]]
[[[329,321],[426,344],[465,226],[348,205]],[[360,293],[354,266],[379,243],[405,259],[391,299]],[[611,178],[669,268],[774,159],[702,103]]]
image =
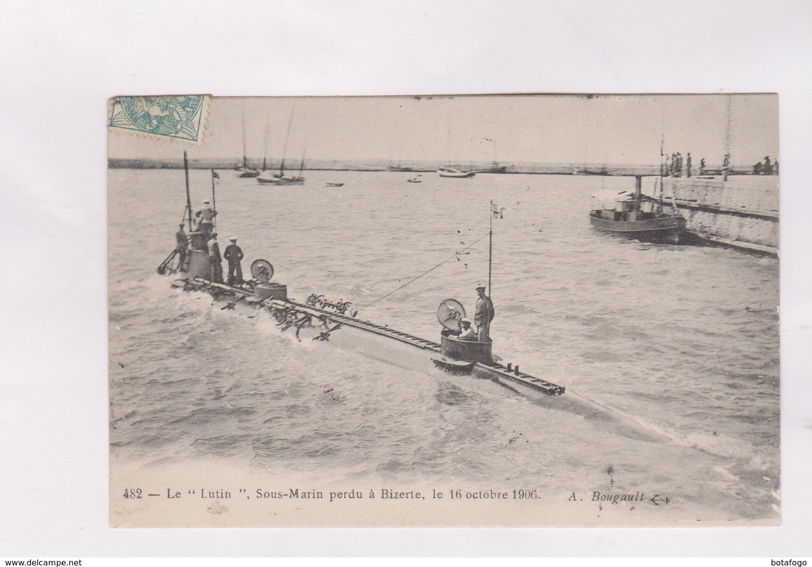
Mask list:
[[208,95],[115,97],[110,129],[201,144]]

